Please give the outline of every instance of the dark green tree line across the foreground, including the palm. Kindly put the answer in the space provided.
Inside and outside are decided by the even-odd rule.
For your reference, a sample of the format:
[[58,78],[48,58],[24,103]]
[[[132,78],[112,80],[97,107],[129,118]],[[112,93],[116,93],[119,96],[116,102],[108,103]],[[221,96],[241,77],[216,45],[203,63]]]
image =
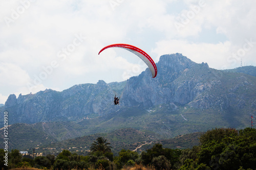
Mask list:
[[256,169],[256,130],[246,128],[216,128],[202,134],[200,144],[191,149],[168,149],[157,143],[141,154],[121,150],[112,153],[111,143],[98,137],[87,156],[63,150],[57,156],[22,156],[18,150],[8,153],[8,166],[4,165],[0,149],[0,168],[36,167],[41,169]]

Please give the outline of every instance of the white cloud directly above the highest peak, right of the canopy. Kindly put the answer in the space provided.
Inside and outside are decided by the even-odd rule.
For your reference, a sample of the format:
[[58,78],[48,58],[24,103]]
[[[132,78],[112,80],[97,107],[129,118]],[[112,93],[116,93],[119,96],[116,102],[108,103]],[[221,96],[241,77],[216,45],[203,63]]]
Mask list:
[[153,50],[158,57],[164,54],[181,53],[196,63],[207,62],[209,67],[223,69],[227,67],[230,42],[191,43],[183,40],[160,41]]

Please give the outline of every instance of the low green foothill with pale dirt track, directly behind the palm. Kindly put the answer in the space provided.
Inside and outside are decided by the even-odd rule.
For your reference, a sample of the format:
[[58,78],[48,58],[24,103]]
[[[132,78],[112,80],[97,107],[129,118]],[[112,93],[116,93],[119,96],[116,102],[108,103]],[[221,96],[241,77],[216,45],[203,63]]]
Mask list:
[[[94,134],[82,136],[74,139],[63,140],[51,144],[41,145],[37,147],[37,153],[57,154],[63,150],[75,152],[79,155],[87,155],[90,146],[98,137],[105,137],[113,147],[112,151],[118,155],[122,149],[131,150],[141,153],[151,148],[155,143],[161,143],[165,148],[187,149],[199,144],[199,136],[201,133],[193,133],[180,135],[171,139],[158,140],[154,136],[141,132],[132,128],[114,130],[110,133]],[[29,150],[32,152],[32,150]]]

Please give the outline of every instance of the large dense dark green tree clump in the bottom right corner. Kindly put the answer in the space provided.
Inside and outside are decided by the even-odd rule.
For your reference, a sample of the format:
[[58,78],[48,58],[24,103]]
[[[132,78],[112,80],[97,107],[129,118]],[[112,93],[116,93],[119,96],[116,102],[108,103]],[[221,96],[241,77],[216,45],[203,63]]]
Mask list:
[[200,137],[198,164],[212,169],[256,168],[256,130],[213,129]]

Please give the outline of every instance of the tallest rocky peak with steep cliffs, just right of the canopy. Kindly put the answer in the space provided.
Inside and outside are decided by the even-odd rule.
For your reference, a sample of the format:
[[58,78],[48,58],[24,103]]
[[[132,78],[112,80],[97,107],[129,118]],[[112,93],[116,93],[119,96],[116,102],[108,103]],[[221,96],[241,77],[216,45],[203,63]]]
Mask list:
[[202,77],[191,74],[196,67],[202,74],[210,70],[207,64],[197,64],[181,54],[161,56],[156,78],[152,79],[146,70],[127,81],[124,102],[129,106],[137,103],[146,107],[168,103],[187,104],[208,87]]

